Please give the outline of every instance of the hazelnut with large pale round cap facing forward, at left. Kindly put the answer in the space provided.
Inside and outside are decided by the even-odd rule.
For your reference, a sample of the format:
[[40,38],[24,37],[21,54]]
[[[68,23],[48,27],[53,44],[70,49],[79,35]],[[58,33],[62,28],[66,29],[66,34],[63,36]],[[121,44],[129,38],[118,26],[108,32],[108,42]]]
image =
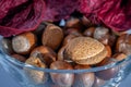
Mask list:
[[12,47],[16,53],[27,54],[36,45],[36,36],[31,33],[24,33],[13,37]]

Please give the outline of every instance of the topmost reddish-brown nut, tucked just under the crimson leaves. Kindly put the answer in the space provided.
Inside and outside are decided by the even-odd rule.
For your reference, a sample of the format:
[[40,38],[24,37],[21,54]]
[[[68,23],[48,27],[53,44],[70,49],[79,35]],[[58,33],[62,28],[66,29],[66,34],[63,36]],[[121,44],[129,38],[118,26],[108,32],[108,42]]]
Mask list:
[[80,18],[76,17],[71,17],[66,22],[66,27],[67,28],[82,28],[82,23],[80,22]]

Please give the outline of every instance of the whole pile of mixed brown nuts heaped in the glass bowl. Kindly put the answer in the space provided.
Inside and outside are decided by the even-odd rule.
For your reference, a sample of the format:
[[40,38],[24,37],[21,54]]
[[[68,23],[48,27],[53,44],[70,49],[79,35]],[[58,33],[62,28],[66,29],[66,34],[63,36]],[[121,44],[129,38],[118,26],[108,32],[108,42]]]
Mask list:
[[[96,26],[85,17],[71,17],[64,26],[43,22],[34,32],[2,39],[5,53],[27,64],[51,70],[87,70],[121,61],[131,54],[131,35]],[[119,67],[95,73],[47,73],[24,67],[35,84],[49,78],[50,87],[99,87]],[[79,86],[81,84],[81,86]]]

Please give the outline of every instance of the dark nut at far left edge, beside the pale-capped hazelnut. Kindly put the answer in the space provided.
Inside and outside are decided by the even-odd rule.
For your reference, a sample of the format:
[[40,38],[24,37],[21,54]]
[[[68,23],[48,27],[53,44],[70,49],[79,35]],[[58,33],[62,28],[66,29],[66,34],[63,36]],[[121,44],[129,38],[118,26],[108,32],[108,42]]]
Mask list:
[[7,54],[12,54],[14,53],[13,48],[12,48],[12,41],[10,39],[3,38],[1,40],[1,47],[2,50],[7,53]]

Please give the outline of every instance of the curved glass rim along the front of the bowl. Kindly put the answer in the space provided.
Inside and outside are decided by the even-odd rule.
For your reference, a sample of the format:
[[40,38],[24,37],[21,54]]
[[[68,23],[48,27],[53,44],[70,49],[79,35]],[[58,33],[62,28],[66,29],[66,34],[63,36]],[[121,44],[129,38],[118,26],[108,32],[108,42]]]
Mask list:
[[106,64],[106,65],[103,65],[103,66],[97,66],[97,67],[91,67],[91,69],[84,69],[84,70],[51,70],[51,69],[43,69],[43,67],[37,67],[37,66],[34,66],[34,65],[31,65],[31,64],[27,64],[27,63],[24,63],[24,62],[21,62],[12,57],[10,57],[9,54],[7,54],[2,47],[1,47],[1,39],[2,37],[0,36],[0,54],[4,58],[4,59],[1,59],[1,60],[5,60],[8,62],[11,62],[17,66],[21,66],[21,67],[24,67],[24,69],[31,69],[31,70],[36,70],[36,71],[43,71],[43,72],[46,72],[46,73],[90,73],[90,72],[98,72],[98,71],[103,71],[103,70],[108,70],[108,69],[111,69],[111,67],[116,67],[116,66],[119,66],[123,63],[129,63],[131,62],[131,55],[128,55],[126,59],[121,60],[121,61],[117,61],[115,60],[114,58],[112,59],[112,63],[109,63],[109,64]]

